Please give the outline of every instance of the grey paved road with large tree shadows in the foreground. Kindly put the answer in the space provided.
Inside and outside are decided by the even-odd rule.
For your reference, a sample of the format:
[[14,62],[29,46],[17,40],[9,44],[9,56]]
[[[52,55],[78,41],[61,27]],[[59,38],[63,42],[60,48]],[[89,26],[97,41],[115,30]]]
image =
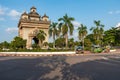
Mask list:
[[120,80],[120,54],[0,57],[0,80]]

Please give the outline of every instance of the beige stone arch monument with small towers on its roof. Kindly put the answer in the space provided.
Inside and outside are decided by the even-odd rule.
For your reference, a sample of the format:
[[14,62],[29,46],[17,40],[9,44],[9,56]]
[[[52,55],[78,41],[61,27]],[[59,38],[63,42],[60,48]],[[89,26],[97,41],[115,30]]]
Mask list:
[[35,33],[39,30],[43,30],[47,36],[44,42],[48,42],[48,29],[50,25],[49,17],[44,14],[43,16],[39,15],[35,7],[30,8],[30,12],[24,12],[19,20],[19,36],[24,40],[27,40],[26,48],[32,48],[32,40],[36,39]]

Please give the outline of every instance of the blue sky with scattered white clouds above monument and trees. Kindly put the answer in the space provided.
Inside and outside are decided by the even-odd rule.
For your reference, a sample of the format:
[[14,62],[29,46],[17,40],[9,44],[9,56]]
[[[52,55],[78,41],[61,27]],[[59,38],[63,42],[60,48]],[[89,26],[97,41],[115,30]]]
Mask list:
[[[0,42],[10,42],[18,35],[19,17],[32,6],[40,15],[46,13],[51,21],[67,13],[75,18],[75,29],[82,23],[89,30],[94,20],[101,20],[107,30],[120,23],[119,3],[120,0],[0,0]],[[76,30],[73,37],[77,39]]]

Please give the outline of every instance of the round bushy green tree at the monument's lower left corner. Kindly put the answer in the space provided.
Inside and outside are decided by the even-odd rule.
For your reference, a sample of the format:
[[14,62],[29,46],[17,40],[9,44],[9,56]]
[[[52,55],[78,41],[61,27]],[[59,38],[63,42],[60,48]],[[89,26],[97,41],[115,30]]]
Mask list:
[[16,36],[13,41],[11,41],[11,47],[13,49],[25,48],[26,47],[26,40]]

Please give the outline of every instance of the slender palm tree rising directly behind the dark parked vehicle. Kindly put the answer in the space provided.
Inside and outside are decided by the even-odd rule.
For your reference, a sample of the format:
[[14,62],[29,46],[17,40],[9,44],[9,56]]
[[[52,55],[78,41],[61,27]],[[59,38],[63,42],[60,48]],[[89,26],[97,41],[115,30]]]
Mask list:
[[82,42],[82,47],[84,49],[84,39],[87,35],[87,27],[84,26],[83,24],[81,24],[80,27],[78,27],[78,35],[79,35],[79,39]]

